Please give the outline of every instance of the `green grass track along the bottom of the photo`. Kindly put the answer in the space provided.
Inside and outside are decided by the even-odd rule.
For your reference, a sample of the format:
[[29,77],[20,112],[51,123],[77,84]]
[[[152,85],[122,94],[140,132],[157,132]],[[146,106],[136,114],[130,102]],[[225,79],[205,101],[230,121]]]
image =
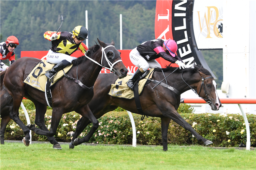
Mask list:
[[0,145],[0,169],[256,169],[256,151],[201,146],[76,146],[22,143]]

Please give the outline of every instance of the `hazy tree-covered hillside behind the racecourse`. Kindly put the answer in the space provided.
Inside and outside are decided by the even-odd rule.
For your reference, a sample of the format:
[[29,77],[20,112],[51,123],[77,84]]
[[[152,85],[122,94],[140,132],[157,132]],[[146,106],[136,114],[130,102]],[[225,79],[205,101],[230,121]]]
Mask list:
[[[77,5],[79,4],[79,5]],[[58,7],[56,7],[58,6]],[[133,49],[141,43],[155,39],[156,0],[94,0],[94,1],[0,1],[0,34],[5,40],[14,35],[19,40],[15,49],[16,60],[20,51],[48,51],[51,42],[43,37],[46,31],[72,32],[75,26],[85,26],[88,11],[88,46],[97,38],[120,47],[120,20],[123,23],[123,49]],[[8,12],[6,12],[8,11]],[[205,61],[217,77],[218,89],[223,81],[222,51],[202,51]],[[3,62],[9,66],[8,60]]]

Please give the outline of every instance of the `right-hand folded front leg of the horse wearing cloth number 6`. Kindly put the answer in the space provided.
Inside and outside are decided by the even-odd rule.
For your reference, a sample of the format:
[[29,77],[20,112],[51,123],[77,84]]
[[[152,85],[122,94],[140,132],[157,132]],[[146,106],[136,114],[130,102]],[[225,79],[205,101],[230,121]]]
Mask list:
[[83,107],[80,107],[76,111],[86,119],[89,119],[93,123],[93,127],[91,128],[90,132],[83,138],[76,138],[74,140],[74,146],[80,145],[81,143],[88,142],[90,138],[93,136],[94,132],[98,129],[99,127],[99,121],[95,118],[93,113],[91,112],[90,108],[88,105],[85,105]]

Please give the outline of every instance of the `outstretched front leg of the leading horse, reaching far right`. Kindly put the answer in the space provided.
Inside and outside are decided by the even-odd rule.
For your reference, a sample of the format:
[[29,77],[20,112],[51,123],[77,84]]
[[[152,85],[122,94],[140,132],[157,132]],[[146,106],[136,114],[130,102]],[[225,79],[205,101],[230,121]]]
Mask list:
[[192,133],[197,140],[203,141],[204,145],[209,145],[212,144],[212,141],[203,138],[201,135],[199,135],[193,128],[192,126],[186,122],[181,115],[175,110],[174,106],[168,106],[168,107],[162,107],[165,108],[165,110],[162,110],[163,116],[171,118],[173,121],[181,125],[184,129],[188,130],[190,133]]

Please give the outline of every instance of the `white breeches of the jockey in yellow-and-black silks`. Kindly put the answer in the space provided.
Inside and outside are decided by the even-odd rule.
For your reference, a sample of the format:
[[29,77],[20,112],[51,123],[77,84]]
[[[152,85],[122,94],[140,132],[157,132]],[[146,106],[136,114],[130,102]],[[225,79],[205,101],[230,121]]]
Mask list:
[[52,50],[49,50],[49,52],[46,55],[46,60],[49,63],[52,64],[58,64],[59,62],[61,62],[62,60],[67,60],[68,62],[72,62],[72,60],[75,60],[76,57],[71,57],[67,54],[63,54],[63,53],[55,53]]

